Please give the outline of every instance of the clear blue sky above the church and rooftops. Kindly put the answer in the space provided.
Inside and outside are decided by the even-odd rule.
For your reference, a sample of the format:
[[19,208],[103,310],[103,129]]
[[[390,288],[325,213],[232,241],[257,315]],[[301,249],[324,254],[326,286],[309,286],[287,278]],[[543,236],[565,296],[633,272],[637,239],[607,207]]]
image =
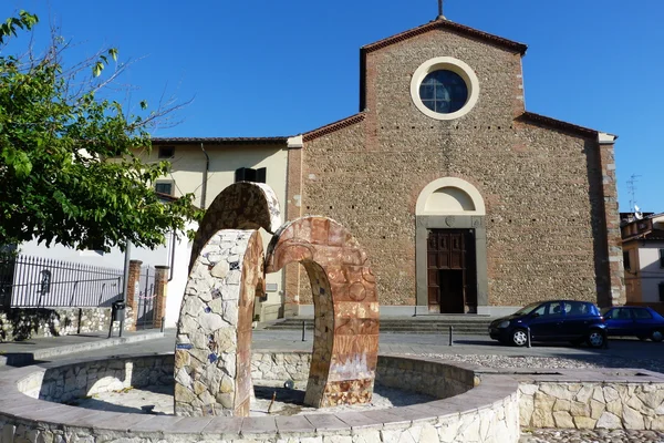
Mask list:
[[[436,0],[6,0],[75,43],[72,60],[116,47],[135,63],[125,103],[179,102],[155,136],[293,135],[359,111],[360,47],[424,24]],[[445,0],[448,19],[529,45],[529,111],[620,136],[621,210],[639,175],[642,210],[664,212],[664,1]]]

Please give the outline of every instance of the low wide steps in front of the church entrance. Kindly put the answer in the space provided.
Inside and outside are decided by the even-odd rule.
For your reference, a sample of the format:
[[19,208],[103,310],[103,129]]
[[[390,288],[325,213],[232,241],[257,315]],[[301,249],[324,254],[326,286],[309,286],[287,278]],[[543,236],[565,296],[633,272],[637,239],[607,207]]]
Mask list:
[[[477,315],[424,315],[417,317],[383,317],[381,332],[393,333],[448,333],[449,327],[454,334],[487,336],[489,323],[495,317]],[[312,317],[290,317],[274,322],[264,323],[267,330],[313,330]]]

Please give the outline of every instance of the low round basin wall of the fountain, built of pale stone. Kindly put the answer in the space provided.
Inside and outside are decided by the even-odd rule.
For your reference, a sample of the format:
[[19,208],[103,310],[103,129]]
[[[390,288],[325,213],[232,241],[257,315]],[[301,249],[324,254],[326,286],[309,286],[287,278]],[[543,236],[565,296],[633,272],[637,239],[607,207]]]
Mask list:
[[[283,361],[291,368],[288,373],[298,375],[303,373],[304,356],[262,353],[257,354],[253,362],[260,367]],[[173,356],[137,356],[11,370],[0,379],[3,393],[0,395],[0,443],[517,443],[519,439],[516,381],[490,374],[481,375],[478,387],[454,399],[391,410],[299,416],[241,419],[118,414],[39,400],[50,395],[53,400],[71,401],[82,392],[91,395],[128,385],[172,383],[173,362]],[[416,368],[416,359],[413,359],[413,369]],[[428,368],[428,363],[424,362],[422,368]],[[261,373],[270,372],[263,369]],[[258,378],[258,374],[253,377]],[[131,380],[129,384],[127,380]]]

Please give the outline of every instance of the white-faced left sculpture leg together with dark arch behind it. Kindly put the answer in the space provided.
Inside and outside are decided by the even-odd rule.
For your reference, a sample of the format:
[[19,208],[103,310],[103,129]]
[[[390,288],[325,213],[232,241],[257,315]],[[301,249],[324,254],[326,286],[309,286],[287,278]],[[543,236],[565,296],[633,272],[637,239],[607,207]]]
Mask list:
[[257,183],[227,187],[206,212],[177,326],[176,415],[249,414],[253,300],[264,292],[257,229],[280,223],[274,193]]

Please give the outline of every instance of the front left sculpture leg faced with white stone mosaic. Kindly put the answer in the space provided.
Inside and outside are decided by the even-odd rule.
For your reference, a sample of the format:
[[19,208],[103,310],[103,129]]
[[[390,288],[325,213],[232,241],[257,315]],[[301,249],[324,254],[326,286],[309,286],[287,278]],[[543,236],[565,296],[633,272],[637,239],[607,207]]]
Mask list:
[[224,229],[203,248],[177,324],[176,415],[249,414],[251,321],[256,292],[264,291],[263,275],[257,230]]

